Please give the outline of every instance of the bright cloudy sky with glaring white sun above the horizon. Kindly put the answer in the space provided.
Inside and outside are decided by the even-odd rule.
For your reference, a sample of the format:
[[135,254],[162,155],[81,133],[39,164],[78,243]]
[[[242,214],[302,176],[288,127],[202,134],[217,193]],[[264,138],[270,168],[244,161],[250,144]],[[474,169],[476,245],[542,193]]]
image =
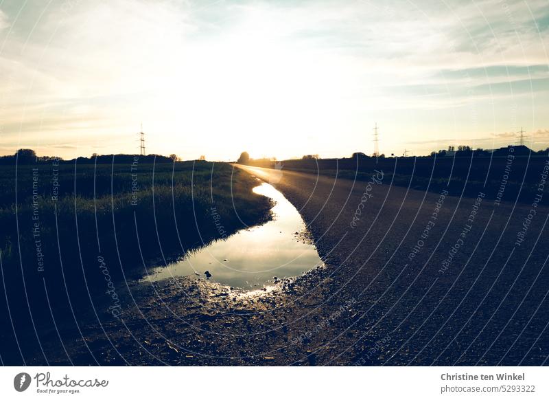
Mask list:
[[0,155],[539,150],[548,47],[548,0],[0,0]]

